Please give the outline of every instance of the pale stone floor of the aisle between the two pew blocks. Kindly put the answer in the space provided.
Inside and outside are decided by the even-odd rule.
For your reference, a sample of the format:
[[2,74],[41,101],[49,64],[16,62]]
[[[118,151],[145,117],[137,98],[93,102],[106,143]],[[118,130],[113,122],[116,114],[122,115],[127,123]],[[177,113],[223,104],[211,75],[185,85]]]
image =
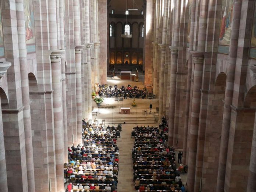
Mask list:
[[[119,192],[135,192],[133,182],[133,163],[132,163],[132,147],[134,139],[131,138],[132,128],[141,124],[122,124],[121,138],[117,140],[119,148],[119,171],[118,171],[118,191]],[[149,126],[157,126],[158,124],[148,124]],[[144,126],[144,125],[143,125]]]

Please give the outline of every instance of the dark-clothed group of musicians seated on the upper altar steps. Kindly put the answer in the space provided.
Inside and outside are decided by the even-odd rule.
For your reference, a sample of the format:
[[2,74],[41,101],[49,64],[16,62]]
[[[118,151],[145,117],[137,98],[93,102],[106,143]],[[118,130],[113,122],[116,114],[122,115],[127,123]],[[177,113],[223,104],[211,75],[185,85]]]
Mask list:
[[146,97],[146,90],[139,89],[137,86],[134,86],[134,88],[131,87],[131,85],[128,85],[125,87],[124,85],[121,86],[121,88],[117,88],[117,85],[113,86],[105,86],[102,85],[99,87],[99,96],[103,97],[124,97],[124,99],[128,98],[136,98],[136,99],[145,99]]

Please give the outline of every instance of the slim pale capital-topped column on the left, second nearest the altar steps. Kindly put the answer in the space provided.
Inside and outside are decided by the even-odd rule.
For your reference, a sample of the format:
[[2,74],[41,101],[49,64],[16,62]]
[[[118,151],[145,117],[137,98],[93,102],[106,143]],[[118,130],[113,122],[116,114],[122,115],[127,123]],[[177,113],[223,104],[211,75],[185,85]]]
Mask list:
[[91,47],[92,43],[86,45],[87,72],[88,72],[88,119],[92,119],[92,77],[91,77]]

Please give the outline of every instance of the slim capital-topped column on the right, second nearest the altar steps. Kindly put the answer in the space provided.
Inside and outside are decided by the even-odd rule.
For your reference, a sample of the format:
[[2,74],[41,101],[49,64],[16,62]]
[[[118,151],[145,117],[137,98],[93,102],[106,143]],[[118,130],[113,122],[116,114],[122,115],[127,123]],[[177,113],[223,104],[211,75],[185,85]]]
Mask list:
[[[164,97],[164,64],[165,64],[165,54],[166,54],[166,45],[159,44],[161,48],[161,63],[160,64],[160,73],[159,73],[159,122],[162,121],[163,114],[163,97]],[[165,106],[164,106],[165,107]]]

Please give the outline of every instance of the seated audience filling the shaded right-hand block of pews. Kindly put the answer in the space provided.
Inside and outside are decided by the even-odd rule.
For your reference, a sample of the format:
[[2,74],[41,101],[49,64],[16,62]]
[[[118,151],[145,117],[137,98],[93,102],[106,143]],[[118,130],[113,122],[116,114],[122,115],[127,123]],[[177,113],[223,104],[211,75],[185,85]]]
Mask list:
[[134,186],[138,192],[185,192],[180,174],[184,166],[175,161],[174,147],[167,146],[168,128],[165,118],[163,129],[158,127],[134,127],[132,150],[134,162]]

